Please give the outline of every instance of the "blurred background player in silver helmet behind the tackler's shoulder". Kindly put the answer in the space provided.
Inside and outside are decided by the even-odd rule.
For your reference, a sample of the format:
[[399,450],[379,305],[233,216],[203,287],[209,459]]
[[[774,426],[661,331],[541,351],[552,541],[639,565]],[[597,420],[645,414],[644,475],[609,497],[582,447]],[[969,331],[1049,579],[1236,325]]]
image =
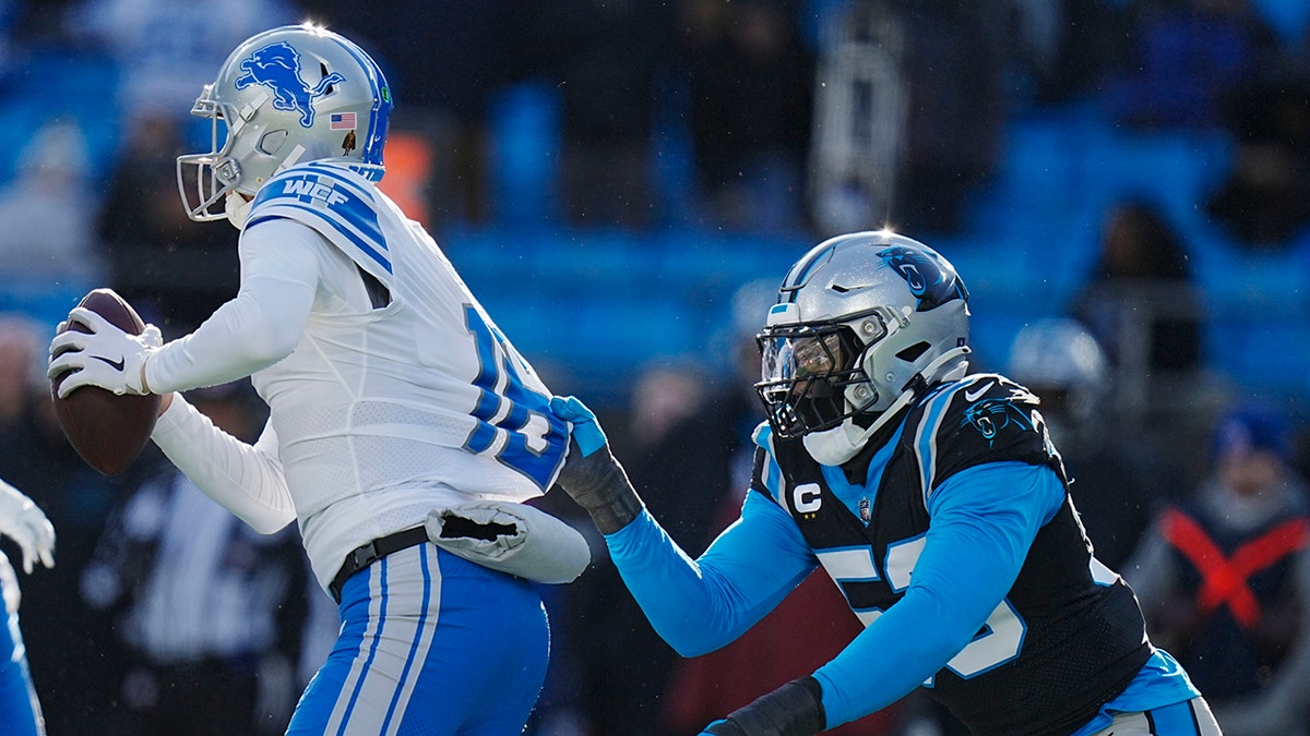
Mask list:
[[1072,478],[1069,492],[1096,559],[1123,570],[1158,507],[1182,496],[1183,475],[1148,439],[1116,426],[1106,409],[1111,376],[1104,352],[1077,321],[1024,326],[1005,375],[1041,399],[1041,418]]

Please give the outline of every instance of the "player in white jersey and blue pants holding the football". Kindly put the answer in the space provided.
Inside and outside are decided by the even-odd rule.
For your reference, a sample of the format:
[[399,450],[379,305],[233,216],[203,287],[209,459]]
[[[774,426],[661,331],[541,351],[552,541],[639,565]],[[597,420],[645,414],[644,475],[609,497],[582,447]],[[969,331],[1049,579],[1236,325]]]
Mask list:
[[[574,554],[566,572],[558,559],[546,572],[487,564],[532,547],[521,502],[554,482],[567,427],[428,233],[377,189],[390,109],[379,67],[338,34],[245,41],[193,109],[212,119],[212,151],[178,158],[191,219],[241,229],[240,292],[168,344],[75,309],[93,334],[56,338],[50,375],[72,372],[63,394],[169,397],[152,439],[187,477],[255,529],[299,521],[342,629],[291,733],[517,733],[549,646],[524,578],[576,576],[586,542],[546,517],[565,529],[542,532],[565,538],[548,557]],[[244,376],[270,407],[254,445],[172,394]],[[452,509],[466,512],[447,524]]]

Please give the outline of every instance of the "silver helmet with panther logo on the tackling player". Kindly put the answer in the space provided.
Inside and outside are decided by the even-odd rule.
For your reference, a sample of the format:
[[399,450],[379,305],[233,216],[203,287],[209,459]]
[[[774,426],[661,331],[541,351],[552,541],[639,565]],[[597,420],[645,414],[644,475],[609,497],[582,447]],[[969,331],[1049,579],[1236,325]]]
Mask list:
[[933,249],[889,230],[837,236],[787,274],[760,333],[773,432],[846,462],[922,389],[968,369],[968,289]]

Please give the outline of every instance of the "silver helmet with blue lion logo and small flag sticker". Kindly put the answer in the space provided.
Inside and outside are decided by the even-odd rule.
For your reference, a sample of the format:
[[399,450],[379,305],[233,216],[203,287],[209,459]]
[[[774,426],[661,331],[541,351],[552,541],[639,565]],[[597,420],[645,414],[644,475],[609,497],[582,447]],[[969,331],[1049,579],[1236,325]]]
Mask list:
[[293,164],[338,160],[380,179],[390,110],[381,69],[348,39],[308,24],[250,37],[191,109],[212,138],[208,153],[177,160],[182,204],[240,227],[249,198]]

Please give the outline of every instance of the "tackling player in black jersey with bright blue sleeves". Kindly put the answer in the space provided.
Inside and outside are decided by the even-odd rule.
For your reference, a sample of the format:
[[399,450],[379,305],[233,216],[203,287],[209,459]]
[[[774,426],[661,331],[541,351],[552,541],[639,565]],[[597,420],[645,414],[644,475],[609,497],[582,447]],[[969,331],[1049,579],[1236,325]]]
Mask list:
[[920,685],[977,733],[1220,732],[1093,555],[1036,397],[968,373],[968,317],[955,268],[891,232],[798,261],[760,334],[769,420],[751,491],[696,561],[591,411],[553,401],[576,441],[559,485],[680,653],[731,642],[819,566],[865,622],[832,661],[705,733],[816,733]]

